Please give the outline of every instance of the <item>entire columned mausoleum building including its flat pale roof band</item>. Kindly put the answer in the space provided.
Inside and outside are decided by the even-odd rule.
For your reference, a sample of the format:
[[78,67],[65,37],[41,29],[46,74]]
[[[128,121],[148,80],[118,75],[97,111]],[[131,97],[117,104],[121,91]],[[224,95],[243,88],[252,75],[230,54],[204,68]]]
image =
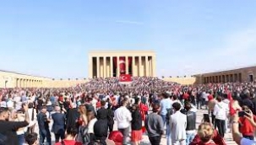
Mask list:
[[155,77],[154,51],[91,51],[89,78],[111,78],[121,74]]

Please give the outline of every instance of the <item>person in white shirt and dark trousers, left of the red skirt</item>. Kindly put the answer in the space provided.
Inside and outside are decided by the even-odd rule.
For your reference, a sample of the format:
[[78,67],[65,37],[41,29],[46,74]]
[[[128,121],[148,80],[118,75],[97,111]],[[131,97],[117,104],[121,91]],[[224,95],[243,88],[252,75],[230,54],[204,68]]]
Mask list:
[[130,122],[132,121],[132,114],[126,108],[128,100],[121,101],[121,107],[115,111],[115,119],[117,120],[117,128],[119,132],[123,134],[123,145],[127,144],[127,137],[130,129]]

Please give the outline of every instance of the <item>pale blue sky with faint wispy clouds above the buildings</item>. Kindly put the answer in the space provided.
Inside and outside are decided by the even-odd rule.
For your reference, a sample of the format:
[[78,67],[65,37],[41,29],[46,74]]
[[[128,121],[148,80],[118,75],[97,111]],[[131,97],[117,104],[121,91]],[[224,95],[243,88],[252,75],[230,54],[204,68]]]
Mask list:
[[256,64],[256,1],[0,2],[0,69],[86,78],[92,50],[154,50],[157,75]]

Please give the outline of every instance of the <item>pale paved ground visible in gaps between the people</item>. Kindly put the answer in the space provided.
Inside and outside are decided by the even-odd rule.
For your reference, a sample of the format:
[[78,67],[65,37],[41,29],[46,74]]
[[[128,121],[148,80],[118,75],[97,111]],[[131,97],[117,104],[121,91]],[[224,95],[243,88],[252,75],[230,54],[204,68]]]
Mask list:
[[[199,124],[201,123],[204,113],[207,113],[207,111],[206,110],[198,110],[198,112],[197,112],[197,126],[199,126]],[[50,124],[50,127],[51,126],[52,126],[52,122]],[[115,123],[114,130],[117,130],[117,123]],[[35,131],[38,132],[38,127],[37,126],[35,126]],[[54,139],[54,134],[52,134],[52,142],[54,142],[54,140],[55,140]],[[228,145],[236,145],[236,143],[233,142],[233,140],[232,140],[231,133],[226,133],[225,140],[226,140],[226,144],[228,144]],[[142,140],[141,144],[142,145],[150,145],[150,141],[149,141],[148,137],[145,134],[143,136],[143,140]],[[161,145],[166,145],[166,137],[162,137]]]

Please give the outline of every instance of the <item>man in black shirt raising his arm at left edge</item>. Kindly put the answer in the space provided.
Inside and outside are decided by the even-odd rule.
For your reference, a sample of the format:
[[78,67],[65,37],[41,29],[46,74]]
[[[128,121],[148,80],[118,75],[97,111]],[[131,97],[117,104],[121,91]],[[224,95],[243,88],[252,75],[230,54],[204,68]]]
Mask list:
[[23,109],[25,110],[25,121],[8,121],[10,111],[7,108],[0,108],[0,144],[19,144],[16,132],[30,123],[28,105],[23,105]]

